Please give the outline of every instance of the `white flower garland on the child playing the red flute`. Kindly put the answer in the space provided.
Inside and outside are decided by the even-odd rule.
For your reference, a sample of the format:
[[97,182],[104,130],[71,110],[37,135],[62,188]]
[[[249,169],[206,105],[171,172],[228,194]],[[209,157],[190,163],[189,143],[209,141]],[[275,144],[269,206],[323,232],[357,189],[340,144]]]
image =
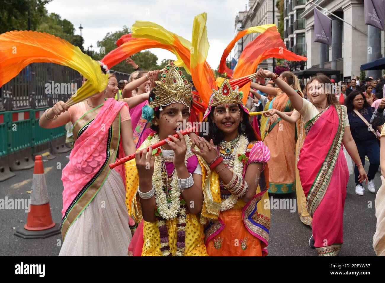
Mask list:
[[[189,148],[189,142],[190,139],[187,135],[184,136],[184,139],[186,140],[187,149]],[[157,135],[154,135],[152,139],[150,140],[150,144],[155,144],[156,142],[159,142],[159,137]],[[159,214],[169,220],[176,218],[177,214],[179,213],[179,210],[181,209],[181,203],[179,201],[179,196],[181,195],[181,188],[178,184],[178,176],[176,174],[176,169],[174,168],[174,171],[172,172],[172,181],[171,181],[171,203],[167,203],[166,193],[163,191],[163,180],[162,180],[162,161],[163,156],[155,156],[155,163],[154,163],[154,174],[152,175],[152,184],[154,185],[155,189],[155,201],[156,205],[159,211]],[[184,164],[187,165],[187,154],[184,157]],[[167,174],[167,172],[166,172]]]

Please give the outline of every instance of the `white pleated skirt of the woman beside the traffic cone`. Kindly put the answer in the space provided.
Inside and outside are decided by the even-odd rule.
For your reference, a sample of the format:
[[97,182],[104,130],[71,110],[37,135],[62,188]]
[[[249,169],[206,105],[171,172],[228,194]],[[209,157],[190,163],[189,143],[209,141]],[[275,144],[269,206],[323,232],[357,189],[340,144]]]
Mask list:
[[59,256],[127,256],[131,241],[126,192],[111,170],[103,186],[70,226]]

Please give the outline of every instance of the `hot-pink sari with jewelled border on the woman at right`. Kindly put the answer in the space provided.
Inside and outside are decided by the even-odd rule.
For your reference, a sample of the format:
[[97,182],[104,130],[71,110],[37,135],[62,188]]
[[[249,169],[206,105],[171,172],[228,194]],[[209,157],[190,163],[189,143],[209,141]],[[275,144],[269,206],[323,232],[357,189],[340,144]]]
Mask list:
[[335,256],[343,243],[343,208],[348,170],[342,151],[345,111],[330,105],[305,124],[298,170],[313,217],[313,238],[320,256]]

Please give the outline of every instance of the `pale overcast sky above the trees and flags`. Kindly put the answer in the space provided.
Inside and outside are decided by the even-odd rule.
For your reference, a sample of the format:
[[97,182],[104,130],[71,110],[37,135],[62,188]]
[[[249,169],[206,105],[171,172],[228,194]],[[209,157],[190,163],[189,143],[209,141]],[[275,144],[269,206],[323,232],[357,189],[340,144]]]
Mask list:
[[[213,69],[219,65],[224,48],[234,38],[235,15],[245,10],[248,0],[54,0],[46,7],[74,24],[80,34],[82,24],[84,48],[102,40],[107,32],[131,28],[136,20],[157,23],[191,41],[194,16],[207,13],[207,32],[210,49],[207,61]],[[94,49],[97,51],[97,49]],[[167,50],[151,49],[162,59],[176,59]]]

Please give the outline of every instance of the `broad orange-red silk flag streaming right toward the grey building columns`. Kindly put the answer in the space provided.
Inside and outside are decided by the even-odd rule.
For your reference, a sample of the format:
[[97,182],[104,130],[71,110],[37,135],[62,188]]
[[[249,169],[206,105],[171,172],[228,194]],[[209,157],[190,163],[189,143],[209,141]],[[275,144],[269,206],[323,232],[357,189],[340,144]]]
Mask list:
[[[288,61],[307,60],[306,57],[297,55],[286,49],[285,43],[281,39],[277,28],[270,27],[246,45],[234,70],[234,79],[253,74],[262,60],[271,57],[286,59]],[[250,84],[251,82],[239,89],[246,94],[243,97],[244,104],[246,104]]]

